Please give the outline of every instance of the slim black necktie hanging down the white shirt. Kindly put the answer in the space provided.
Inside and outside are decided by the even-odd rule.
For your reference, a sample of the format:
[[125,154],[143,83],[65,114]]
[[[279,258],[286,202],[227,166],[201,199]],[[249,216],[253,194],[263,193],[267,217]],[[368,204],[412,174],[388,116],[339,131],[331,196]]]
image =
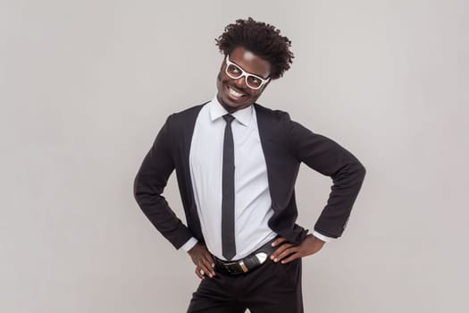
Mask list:
[[223,115],[226,121],[223,140],[223,173],[222,173],[222,253],[230,260],[236,254],[234,239],[234,144],[231,122],[234,117]]

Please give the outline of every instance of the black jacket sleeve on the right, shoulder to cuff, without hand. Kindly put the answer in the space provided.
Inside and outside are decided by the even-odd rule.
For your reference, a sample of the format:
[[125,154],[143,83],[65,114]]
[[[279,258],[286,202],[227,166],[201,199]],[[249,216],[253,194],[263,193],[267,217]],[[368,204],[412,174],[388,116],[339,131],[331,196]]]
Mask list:
[[337,142],[293,121],[289,121],[289,143],[300,162],[331,177],[331,193],[314,230],[328,237],[340,237],[364,181],[364,165]]

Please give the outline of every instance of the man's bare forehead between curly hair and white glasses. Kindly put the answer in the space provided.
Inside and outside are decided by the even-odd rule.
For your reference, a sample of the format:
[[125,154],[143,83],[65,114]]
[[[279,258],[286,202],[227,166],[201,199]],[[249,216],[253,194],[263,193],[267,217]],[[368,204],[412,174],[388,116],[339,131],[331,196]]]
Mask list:
[[244,71],[264,78],[271,73],[271,63],[244,47],[234,48],[230,53],[230,61],[238,64]]

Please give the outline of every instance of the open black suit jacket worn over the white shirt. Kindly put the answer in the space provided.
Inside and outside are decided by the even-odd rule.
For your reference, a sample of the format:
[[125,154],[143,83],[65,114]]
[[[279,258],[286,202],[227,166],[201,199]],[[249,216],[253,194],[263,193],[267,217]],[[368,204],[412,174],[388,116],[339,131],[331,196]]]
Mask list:
[[[189,172],[190,143],[202,106],[193,106],[168,117],[134,183],[134,195],[139,207],[176,249],[192,236],[198,241],[205,241]],[[299,243],[305,238],[307,230],[295,223],[295,182],[299,165],[303,162],[315,171],[331,176],[333,181],[329,200],[314,230],[330,237],[339,237],[364,180],[364,166],[333,140],[291,121],[289,114],[257,104],[254,106],[274,212],[269,226],[290,242]],[[175,216],[162,195],[174,169],[187,226]]]

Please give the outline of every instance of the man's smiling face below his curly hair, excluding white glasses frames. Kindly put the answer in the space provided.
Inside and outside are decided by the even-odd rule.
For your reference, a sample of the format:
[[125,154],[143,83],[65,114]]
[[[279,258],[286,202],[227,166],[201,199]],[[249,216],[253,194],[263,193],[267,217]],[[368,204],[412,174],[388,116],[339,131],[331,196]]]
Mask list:
[[[260,78],[267,80],[271,74],[271,64],[263,58],[246,50],[244,47],[236,47],[229,55],[230,62],[238,65],[238,67]],[[239,79],[232,79],[226,73],[227,61],[223,60],[222,68],[217,77],[218,101],[228,112],[251,106],[258,97],[261,96],[265,87],[269,84],[266,81],[260,89],[251,89],[246,84],[246,76]],[[251,77],[252,78],[252,77]]]

